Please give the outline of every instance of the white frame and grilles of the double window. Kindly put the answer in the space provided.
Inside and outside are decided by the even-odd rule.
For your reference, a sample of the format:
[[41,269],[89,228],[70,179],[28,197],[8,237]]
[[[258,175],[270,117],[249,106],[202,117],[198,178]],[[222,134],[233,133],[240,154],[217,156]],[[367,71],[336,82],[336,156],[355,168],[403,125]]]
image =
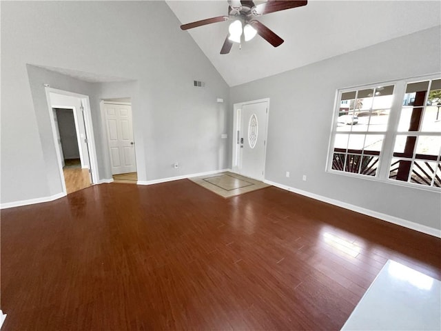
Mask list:
[[[404,95],[406,94],[407,84],[409,83],[417,83],[420,81],[430,81],[428,91],[430,91],[431,81],[434,79],[441,79],[441,72],[435,73],[435,74],[429,74],[424,76],[418,76],[418,77],[409,77],[405,79],[396,79],[393,81],[382,81],[379,83],[369,83],[365,85],[360,86],[351,86],[348,88],[340,88],[336,90],[336,96],[334,100],[334,110],[332,115],[332,121],[331,121],[331,131],[329,134],[329,145],[328,145],[328,153],[327,153],[327,161],[326,161],[326,168],[325,171],[329,172],[331,174],[339,174],[342,176],[347,177],[353,177],[358,179],[367,179],[371,181],[380,181],[382,183],[390,183],[392,185],[401,185],[406,186],[409,188],[417,188],[420,190],[429,190],[433,192],[440,192],[441,188],[436,186],[428,186],[428,185],[422,185],[418,183],[411,183],[410,181],[399,181],[396,179],[389,179],[389,172],[391,168],[391,164],[393,159],[396,159],[396,157],[393,157],[393,148],[396,143],[396,138],[400,135],[405,136],[427,136],[427,135],[435,135],[438,136],[438,132],[424,132],[421,130],[418,131],[398,131],[398,124],[400,121],[400,114],[402,110],[402,103],[404,100]],[[382,148],[380,150],[380,154],[378,155],[378,167],[376,171],[375,176],[371,176],[368,174],[361,174],[361,173],[355,173],[355,172],[345,172],[342,170],[335,170],[332,169],[332,164],[334,160],[334,143],[336,139],[336,134],[351,134],[351,131],[349,132],[343,132],[343,131],[337,131],[338,128],[338,116],[339,116],[339,110],[341,106],[341,98],[342,94],[346,92],[353,92],[358,90],[367,90],[369,88],[377,88],[378,86],[391,86],[393,85],[393,100],[389,112],[389,121],[387,123],[387,130],[384,132],[360,132],[360,134],[383,134],[384,140],[382,142]],[[424,117],[424,112],[427,108],[427,100],[429,98],[429,93],[427,93],[426,98],[424,100],[424,110],[422,117]],[[441,133],[440,133],[441,134]],[[417,138],[418,141],[418,138]],[[346,154],[349,154],[346,152]],[[438,154],[438,159],[435,162],[440,162],[441,164],[441,153]],[[360,157],[362,157],[363,154],[360,154]],[[405,158],[410,159],[410,158]],[[413,167],[414,161],[416,160],[416,155],[413,153],[412,159],[411,159],[411,167]],[[412,168],[411,168],[412,169]],[[359,170],[360,171],[360,170]],[[411,176],[411,173],[409,173],[409,177]],[[409,180],[408,177],[408,180]],[[433,183],[433,180],[432,180]]]

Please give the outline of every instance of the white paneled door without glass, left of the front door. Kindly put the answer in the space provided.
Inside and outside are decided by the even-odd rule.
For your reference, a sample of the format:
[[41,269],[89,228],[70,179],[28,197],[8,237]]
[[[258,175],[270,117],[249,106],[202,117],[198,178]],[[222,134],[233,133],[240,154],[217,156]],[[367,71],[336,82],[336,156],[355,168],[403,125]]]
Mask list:
[[112,174],[136,172],[132,107],[105,103],[104,110]]

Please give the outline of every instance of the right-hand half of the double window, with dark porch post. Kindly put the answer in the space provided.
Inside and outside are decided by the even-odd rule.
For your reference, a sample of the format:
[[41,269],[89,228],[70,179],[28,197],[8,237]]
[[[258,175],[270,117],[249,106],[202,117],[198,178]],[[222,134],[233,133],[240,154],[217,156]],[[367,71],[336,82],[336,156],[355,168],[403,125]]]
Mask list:
[[407,84],[389,179],[441,187],[440,107],[441,79]]

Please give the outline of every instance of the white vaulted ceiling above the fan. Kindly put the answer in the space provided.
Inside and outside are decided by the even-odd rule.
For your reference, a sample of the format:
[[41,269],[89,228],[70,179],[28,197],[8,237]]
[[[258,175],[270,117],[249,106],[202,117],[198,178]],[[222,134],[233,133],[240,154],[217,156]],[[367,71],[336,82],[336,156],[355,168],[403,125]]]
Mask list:
[[[227,0],[166,2],[181,23],[227,15]],[[182,33],[191,34],[228,85],[236,86],[440,26],[441,1],[308,1],[259,20],[285,43],[274,48],[256,36],[241,50],[234,44],[229,54],[221,55],[228,21]]]

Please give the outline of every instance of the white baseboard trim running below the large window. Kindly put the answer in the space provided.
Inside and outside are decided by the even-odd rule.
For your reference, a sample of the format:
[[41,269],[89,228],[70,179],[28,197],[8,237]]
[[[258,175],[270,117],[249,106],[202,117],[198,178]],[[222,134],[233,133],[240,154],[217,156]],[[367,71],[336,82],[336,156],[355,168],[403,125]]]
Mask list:
[[431,228],[427,225],[414,223],[411,221],[407,221],[406,219],[400,219],[399,217],[391,216],[388,214],[383,214],[382,212],[376,212],[375,210],[369,210],[367,208],[362,208],[362,207],[359,207],[358,205],[351,205],[350,203],[345,203],[345,202],[342,202],[342,201],[339,201],[336,199],[330,199],[327,197],[323,197],[318,194],[314,194],[314,193],[307,192],[304,190],[299,190],[298,188],[292,188],[291,186],[275,183],[274,181],[264,180],[264,182],[269,185],[276,186],[276,188],[282,188],[283,190],[287,190],[287,191],[294,192],[294,193],[297,193],[300,195],[304,195],[305,197],[309,197],[312,199],[316,199],[319,201],[330,203],[331,205],[337,205],[338,207],[349,209],[349,210],[352,210],[353,212],[359,212],[360,214],[365,214],[370,217],[375,217],[376,219],[381,219],[382,221],[387,221],[389,223],[404,226],[404,228],[409,228],[411,230],[416,230],[418,232],[430,234],[433,237],[441,238],[441,230]]

